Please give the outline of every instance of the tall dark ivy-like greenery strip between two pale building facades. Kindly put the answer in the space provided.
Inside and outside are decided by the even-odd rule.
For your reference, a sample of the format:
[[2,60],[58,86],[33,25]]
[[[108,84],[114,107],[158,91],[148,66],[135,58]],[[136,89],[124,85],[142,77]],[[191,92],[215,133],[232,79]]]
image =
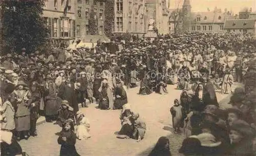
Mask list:
[[104,21],[104,31],[105,35],[112,38],[113,37],[113,23],[114,23],[114,0],[106,0],[105,2],[105,21]]

